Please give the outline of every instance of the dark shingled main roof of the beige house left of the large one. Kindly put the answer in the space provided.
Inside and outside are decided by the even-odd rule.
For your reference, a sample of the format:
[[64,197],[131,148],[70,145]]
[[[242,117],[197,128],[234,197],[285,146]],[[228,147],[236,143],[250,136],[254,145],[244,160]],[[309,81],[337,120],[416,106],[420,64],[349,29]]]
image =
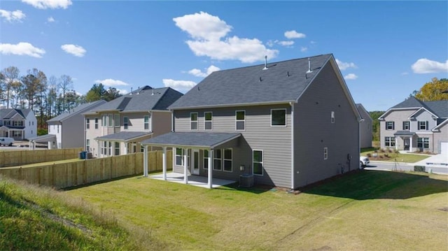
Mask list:
[[155,88],[145,86],[130,94],[126,94],[104,103],[89,113],[108,110],[121,112],[138,112],[148,110],[167,110],[167,107],[179,99],[183,94],[171,87]]

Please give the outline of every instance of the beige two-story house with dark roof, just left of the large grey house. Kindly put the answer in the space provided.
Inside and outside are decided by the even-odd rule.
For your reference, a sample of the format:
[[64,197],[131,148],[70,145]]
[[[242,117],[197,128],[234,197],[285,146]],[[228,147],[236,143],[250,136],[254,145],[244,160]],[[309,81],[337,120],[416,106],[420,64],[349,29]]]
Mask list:
[[140,141],[171,131],[167,107],[182,95],[145,86],[84,113],[85,150],[93,157],[141,152]]

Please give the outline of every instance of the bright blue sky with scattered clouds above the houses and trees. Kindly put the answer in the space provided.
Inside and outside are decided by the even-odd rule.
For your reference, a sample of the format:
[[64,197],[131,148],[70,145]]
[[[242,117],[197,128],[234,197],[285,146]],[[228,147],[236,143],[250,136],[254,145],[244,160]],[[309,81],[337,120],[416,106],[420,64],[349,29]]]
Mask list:
[[447,1],[0,3],[0,69],[122,93],[181,92],[216,70],[332,53],[356,103],[387,110],[448,78]]

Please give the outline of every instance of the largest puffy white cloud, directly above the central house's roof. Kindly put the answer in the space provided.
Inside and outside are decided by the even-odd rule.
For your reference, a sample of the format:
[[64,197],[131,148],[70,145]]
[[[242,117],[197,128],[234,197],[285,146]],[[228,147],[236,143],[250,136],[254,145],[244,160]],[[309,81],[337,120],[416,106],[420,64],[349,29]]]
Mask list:
[[257,38],[229,37],[232,27],[209,13],[195,13],[173,18],[176,26],[193,40],[186,43],[195,55],[218,60],[239,60],[244,63],[262,61],[267,55],[274,58],[278,50],[269,50]]

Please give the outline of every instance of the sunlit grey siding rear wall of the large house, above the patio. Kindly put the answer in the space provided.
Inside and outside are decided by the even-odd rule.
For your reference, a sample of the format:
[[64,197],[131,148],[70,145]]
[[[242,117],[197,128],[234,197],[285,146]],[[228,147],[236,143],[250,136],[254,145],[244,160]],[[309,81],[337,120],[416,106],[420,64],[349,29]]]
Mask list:
[[[286,108],[286,127],[271,127],[271,109]],[[236,131],[235,111],[245,110],[245,130]],[[204,129],[204,112],[212,112],[212,129]],[[190,112],[198,113],[197,130],[190,130]],[[254,175],[255,182],[266,185],[290,187],[291,117],[289,104],[276,106],[246,106],[238,108],[207,108],[175,110],[174,131],[238,132],[242,134],[238,146],[232,148],[232,172],[214,171],[215,178],[238,180],[242,173],[252,173],[252,150],[263,151],[263,175]],[[225,148],[226,146],[223,146]],[[175,157],[176,150],[173,155]],[[200,153],[203,159],[203,152]],[[203,165],[203,160],[201,161]],[[240,171],[239,166],[245,170]],[[203,168],[201,175],[206,175]],[[174,171],[183,171],[176,166]]]

